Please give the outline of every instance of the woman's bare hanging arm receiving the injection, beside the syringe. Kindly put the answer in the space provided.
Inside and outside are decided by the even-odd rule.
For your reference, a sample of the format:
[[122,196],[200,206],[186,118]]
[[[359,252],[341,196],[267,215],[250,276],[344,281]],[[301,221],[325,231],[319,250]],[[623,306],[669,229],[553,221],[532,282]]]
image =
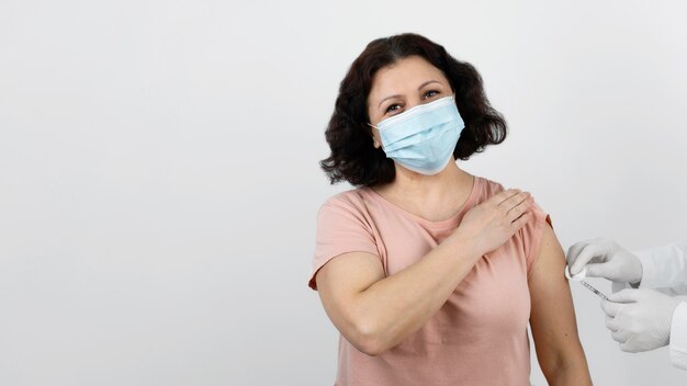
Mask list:
[[549,225],[543,228],[539,256],[529,279],[530,326],[537,357],[547,378],[571,365],[579,366],[579,372],[586,372],[588,378],[586,359],[577,336],[573,298],[563,274],[565,256],[553,229]]

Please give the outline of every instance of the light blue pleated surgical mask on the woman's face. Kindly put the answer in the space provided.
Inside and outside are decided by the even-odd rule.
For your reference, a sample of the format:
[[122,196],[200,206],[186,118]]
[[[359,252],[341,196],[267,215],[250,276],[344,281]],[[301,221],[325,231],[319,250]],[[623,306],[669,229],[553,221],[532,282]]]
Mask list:
[[432,175],[442,171],[465,127],[453,96],[417,105],[376,126],[387,158],[406,169]]

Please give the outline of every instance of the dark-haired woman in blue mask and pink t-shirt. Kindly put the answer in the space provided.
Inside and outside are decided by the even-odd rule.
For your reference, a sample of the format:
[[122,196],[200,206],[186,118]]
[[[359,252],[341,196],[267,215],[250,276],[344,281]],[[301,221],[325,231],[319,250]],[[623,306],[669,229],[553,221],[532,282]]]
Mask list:
[[590,385],[563,251],[530,194],[458,168],[506,124],[466,63],[415,34],[341,82],[309,285],[340,331],[336,385]]

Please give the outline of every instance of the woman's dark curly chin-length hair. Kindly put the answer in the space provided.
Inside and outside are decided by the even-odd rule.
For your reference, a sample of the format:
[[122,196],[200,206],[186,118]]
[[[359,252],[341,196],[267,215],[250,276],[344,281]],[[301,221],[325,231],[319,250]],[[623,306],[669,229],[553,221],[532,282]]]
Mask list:
[[331,154],[319,164],[333,184],[346,180],[352,185],[374,186],[394,180],[394,161],[372,145],[367,101],[375,72],[413,55],[440,69],[455,93],[455,105],[465,122],[453,150],[455,159],[466,160],[506,139],[506,121],[491,106],[482,77],[472,65],[417,34],[378,38],[368,44],[341,81],[325,132]]

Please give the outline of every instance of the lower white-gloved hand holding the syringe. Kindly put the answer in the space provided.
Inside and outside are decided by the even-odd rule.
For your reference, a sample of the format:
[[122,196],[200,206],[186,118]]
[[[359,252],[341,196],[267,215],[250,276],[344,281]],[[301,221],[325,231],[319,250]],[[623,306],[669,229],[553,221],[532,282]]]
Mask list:
[[668,344],[679,300],[654,290],[622,290],[601,300],[606,327],[620,350],[641,352]]

